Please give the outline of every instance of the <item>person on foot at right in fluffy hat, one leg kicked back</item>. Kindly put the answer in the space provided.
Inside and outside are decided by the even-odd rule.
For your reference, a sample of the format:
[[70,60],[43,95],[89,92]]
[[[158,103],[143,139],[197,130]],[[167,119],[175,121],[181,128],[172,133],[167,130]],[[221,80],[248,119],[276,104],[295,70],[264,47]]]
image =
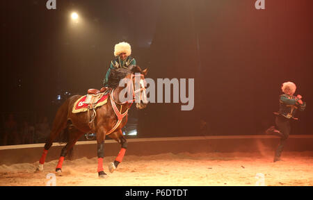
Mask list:
[[266,130],[266,134],[275,134],[280,135],[280,144],[278,144],[278,148],[275,151],[274,162],[280,161],[280,155],[282,154],[282,149],[284,149],[284,144],[289,137],[291,127],[290,120],[297,119],[295,118],[296,110],[300,111],[305,110],[306,103],[301,99],[301,95],[298,94],[296,97],[294,96],[294,92],[296,92],[296,85],[292,82],[282,83],[282,92],[284,94],[280,95],[280,110],[278,113],[274,113],[275,118],[275,126],[271,126]]

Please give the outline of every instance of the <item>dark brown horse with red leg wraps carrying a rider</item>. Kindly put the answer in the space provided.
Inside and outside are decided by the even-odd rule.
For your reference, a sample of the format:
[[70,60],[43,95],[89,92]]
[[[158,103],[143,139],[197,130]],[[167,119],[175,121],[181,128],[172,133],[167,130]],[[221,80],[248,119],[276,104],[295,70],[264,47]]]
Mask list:
[[[112,75],[113,74],[113,75]],[[114,75],[115,74],[115,75]],[[127,123],[127,111],[129,110],[132,101],[134,101],[135,96],[140,99],[136,99],[137,108],[145,108],[147,105],[147,96],[145,93],[145,75],[147,74],[147,69],[141,70],[138,66],[131,66],[128,69],[115,69],[111,72],[109,77],[109,98],[106,104],[101,107],[95,108],[96,117],[94,120],[94,126],[89,126],[88,112],[83,113],[72,113],[72,108],[74,103],[81,96],[75,95],[67,99],[63,105],[58,109],[56,117],[54,119],[54,124],[51,129],[51,133],[47,142],[45,143],[45,149],[40,158],[37,170],[42,171],[43,165],[45,163],[45,158],[47,152],[52,145],[52,142],[60,135],[62,131],[66,134],[67,144],[63,147],[61,151],[61,156],[56,166],[56,172],[61,173],[62,164],[65,156],[69,153],[77,140],[81,135],[86,133],[96,133],[97,137],[97,156],[98,156],[98,168],[97,172],[100,178],[105,178],[106,173],[103,169],[103,158],[104,158],[104,140],[106,135],[110,138],[118,141],[121,145],[120,152],[115,158],[113,163],[109,165],[109,171],[112,173],[118,164],[122,162],[122,158],[125,155],[127,149],[127,140],[124,135],[122,135],[122,127]],[[120,86],[120,80],[129,80],[128,83]],[[135,87],[137,80],[140,81],[140,86]],[[132,101],[121,101],[120,94],[123,91],[131,91]]]

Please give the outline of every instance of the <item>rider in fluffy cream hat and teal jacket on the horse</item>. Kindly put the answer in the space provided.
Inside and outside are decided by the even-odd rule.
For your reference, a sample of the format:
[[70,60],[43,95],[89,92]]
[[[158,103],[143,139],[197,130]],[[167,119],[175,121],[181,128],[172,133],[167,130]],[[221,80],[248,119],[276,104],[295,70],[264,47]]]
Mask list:
[[115,44],[114,47],[114,56],[115,59],[111,60],[111,65],[106,72],[106,77],[104,78],[103,84],[104,87],[108,87],[108,80],[111,73],[111,70],[114,68],[125,68],[129,65],[136,65],[135,58],[132,58],[131,56],[131,46],[127,42],[120,42],[118,44]]

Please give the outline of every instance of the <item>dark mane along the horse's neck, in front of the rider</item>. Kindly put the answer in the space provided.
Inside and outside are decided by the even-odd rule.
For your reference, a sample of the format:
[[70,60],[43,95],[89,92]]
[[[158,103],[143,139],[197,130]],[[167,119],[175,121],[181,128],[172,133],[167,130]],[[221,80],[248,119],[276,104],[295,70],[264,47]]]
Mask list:
[[113,89],[117,88],[118,84],[120,83],[120,80],[122,80],[122,78],[125,78],[125,76],[127,76],[127,74],[130,73],[141,73],[141,67],[137,65],[131,65],[127,69],[125,68],[112,69],[108,80],[109,88]]

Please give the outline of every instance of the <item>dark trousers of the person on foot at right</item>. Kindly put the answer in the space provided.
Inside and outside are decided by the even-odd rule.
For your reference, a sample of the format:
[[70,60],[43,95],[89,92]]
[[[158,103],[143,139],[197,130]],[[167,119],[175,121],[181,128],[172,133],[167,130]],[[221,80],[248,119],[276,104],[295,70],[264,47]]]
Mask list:
[[280,138],[280,144],[278,144],[278,148],[275,152],[275,157],[279,158],[282,154],[282,150],[284,149],[284,144],[286,144],[287,139],[289,138],[289,134],[291,131],[290,127],[290,119],[283,117],[282,115],[276,116],[275,119],[276,128],[280,133],[282,133],[282,138]]

